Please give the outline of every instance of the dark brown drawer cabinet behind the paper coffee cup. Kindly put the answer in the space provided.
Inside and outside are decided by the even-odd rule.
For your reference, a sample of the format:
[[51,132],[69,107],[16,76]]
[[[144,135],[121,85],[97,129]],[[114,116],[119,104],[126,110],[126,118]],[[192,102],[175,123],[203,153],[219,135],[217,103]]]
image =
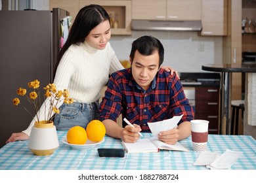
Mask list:
[[209,133],[219,130],[219,88],[196,87],[195,119],[209,121]]

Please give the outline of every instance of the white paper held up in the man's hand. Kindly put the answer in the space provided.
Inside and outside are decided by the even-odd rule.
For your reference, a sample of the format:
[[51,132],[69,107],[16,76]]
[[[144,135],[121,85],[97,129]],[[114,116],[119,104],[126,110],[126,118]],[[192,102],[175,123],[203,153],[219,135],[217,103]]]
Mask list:
[[168,120],[163,120],[160,122],[148,123],[148,127],[152,132],[152,135],[158,136],[158,133],[161,131],[167,131],[169,129],[173,129],[177,127],[177,124],[181,120],[183,114],[181,116],[173,116],[173,118]]

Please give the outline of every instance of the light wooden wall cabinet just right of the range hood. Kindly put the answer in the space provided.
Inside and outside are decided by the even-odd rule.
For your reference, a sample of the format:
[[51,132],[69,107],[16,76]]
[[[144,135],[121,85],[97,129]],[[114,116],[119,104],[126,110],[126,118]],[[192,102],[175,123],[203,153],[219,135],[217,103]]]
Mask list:
[[227,0],[202,1],[201,35],[227,34]]

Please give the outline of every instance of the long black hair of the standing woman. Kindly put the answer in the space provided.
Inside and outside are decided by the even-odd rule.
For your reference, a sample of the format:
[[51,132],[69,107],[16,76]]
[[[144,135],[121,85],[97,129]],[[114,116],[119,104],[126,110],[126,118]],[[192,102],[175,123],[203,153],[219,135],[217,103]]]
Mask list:
[[100,5],[89,5],[79,10],[70,29],[70,32],[68,33],[68,39],[58,54],[54,75],[56,73],[58,63],[60,63],[60,59],[66,50],[68,50],[72,44],[79,44],[79,42],[84,42],[85,37],[89,35],[91,30],[96,27],[96,25],[104,22],[105,20],[110,21],[110,16]]

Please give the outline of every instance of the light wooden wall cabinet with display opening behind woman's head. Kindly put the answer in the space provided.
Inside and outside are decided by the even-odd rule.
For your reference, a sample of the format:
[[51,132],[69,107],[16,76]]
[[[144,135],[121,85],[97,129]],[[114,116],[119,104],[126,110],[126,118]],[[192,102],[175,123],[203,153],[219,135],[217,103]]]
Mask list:
[[100,5],[108,12],[112,35],[131,35],[131,1],[79,0],[79,9],[91,4]]

